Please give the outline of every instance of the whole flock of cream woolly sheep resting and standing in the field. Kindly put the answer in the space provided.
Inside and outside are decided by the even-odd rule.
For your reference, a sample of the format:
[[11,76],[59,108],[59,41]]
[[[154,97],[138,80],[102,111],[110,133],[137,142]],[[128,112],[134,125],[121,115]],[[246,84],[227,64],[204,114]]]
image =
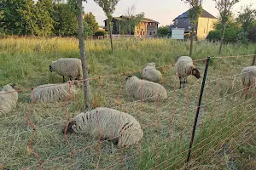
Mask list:
[[[55,71],[63,77],[63,83],[45,84],[33,89],[30,100],[33,102],[56,102],[65,99],[69,93],[73,93],[77,84],[65,82],[65,77],[71,81],[79,80],[83,77],[80,59],[67,58],[57,59],[49,65],[49,71]],[[193,60],[189,56],[181,56],[175,64],[176,75],[180,81],[180,87],[184,88],[187,77],[193,75],[201,78],[200,71],[193,65]],[[244,68],[241,82],[248,90],[256,87],[256,65]],[[157,101],[167,99],[166,88],[160,83],[162,74],[157,71],[154,63],[148,65],[142,71],[142,79],[135,76],[128,76],[125,79],[125,91],[133,99],[143,99],[146,101]],[[0,116],[7,115],[12,111],[18,100],[17,88],[14,84],[4,86],[0,92]],[[109,109],[96,108],[92,111],[82,112],[69,122],[63,133],[87,133],[90,135],[102,136],[102,139],[113,139],[122,147],[127,147],[139,143],[143,139],[143,130],[140,123],[128,113]]]

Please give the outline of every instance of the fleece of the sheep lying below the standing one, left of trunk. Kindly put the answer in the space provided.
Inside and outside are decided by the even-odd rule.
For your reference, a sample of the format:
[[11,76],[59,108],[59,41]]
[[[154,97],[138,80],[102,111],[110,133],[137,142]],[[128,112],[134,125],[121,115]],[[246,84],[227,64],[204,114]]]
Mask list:
[[68,83],[61,84],[44,84],[42,86],[38,86],[34,88],[34,93],[30,96],[30,101],[32,101],[32,97],[34,94],[34,102],[55,102],[60,100],[67,99],[70,93],[73,94],[75,92],[75,88],[73,85],[70,85],[68,88]]

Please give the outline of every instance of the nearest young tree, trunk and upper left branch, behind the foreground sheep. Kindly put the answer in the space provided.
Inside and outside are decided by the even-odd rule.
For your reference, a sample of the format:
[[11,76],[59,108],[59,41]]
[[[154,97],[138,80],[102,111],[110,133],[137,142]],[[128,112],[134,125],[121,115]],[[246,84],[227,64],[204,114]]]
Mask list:
[[79,21],[79,51],[80,59],[82,61],[83,78],[84,78],[84,102],[85,106],[90,109],[90,94],[89,94],[89,83],[88,83],[88,72],[86,63],[86,50],[84,44],[84,8],[83,1],[86,0],[68,0],[68,4],[73,9],[74,14],[77,15]]

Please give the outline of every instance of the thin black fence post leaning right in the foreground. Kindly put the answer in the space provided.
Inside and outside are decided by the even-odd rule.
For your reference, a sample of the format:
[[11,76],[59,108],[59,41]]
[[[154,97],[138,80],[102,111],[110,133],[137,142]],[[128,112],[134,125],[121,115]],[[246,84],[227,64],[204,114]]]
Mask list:
[[192,150],[192,146],[193,146],[196,123],[197,123],[197,120],[198,120],[198,115],[199,115],[199,111],[200,111],[200,107],[201,107],[201,99],[202,99],[202,95],[204,93],[205,83],[206,83],[206,79],[207,79],[207,71],[208,71],[209,61],[210,61],[210,57],[207,57],[207,64],[206,64],[206,67],[205,67],[203,81],[201,82],[201,92],[200,92],[198,105],[197,105],[197,109],[196,109],[195,121],[194,121],[194,126],[193,126],[193,131],[192,131],[192,136],[191,136],[191,140],[190,140],[189,151],[188,151],[188,156],[187,156],[187,161],[186,161],[187,165],[189,163],[190,154],[191,154],[191,150]]

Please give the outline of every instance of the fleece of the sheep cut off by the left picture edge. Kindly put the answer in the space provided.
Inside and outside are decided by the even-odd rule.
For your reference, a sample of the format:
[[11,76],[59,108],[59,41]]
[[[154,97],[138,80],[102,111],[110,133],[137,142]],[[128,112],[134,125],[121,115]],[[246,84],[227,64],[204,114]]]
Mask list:
[[0,92],[0,116],[12,111],[18,101],[18,93],[11,85],[5,85]]

